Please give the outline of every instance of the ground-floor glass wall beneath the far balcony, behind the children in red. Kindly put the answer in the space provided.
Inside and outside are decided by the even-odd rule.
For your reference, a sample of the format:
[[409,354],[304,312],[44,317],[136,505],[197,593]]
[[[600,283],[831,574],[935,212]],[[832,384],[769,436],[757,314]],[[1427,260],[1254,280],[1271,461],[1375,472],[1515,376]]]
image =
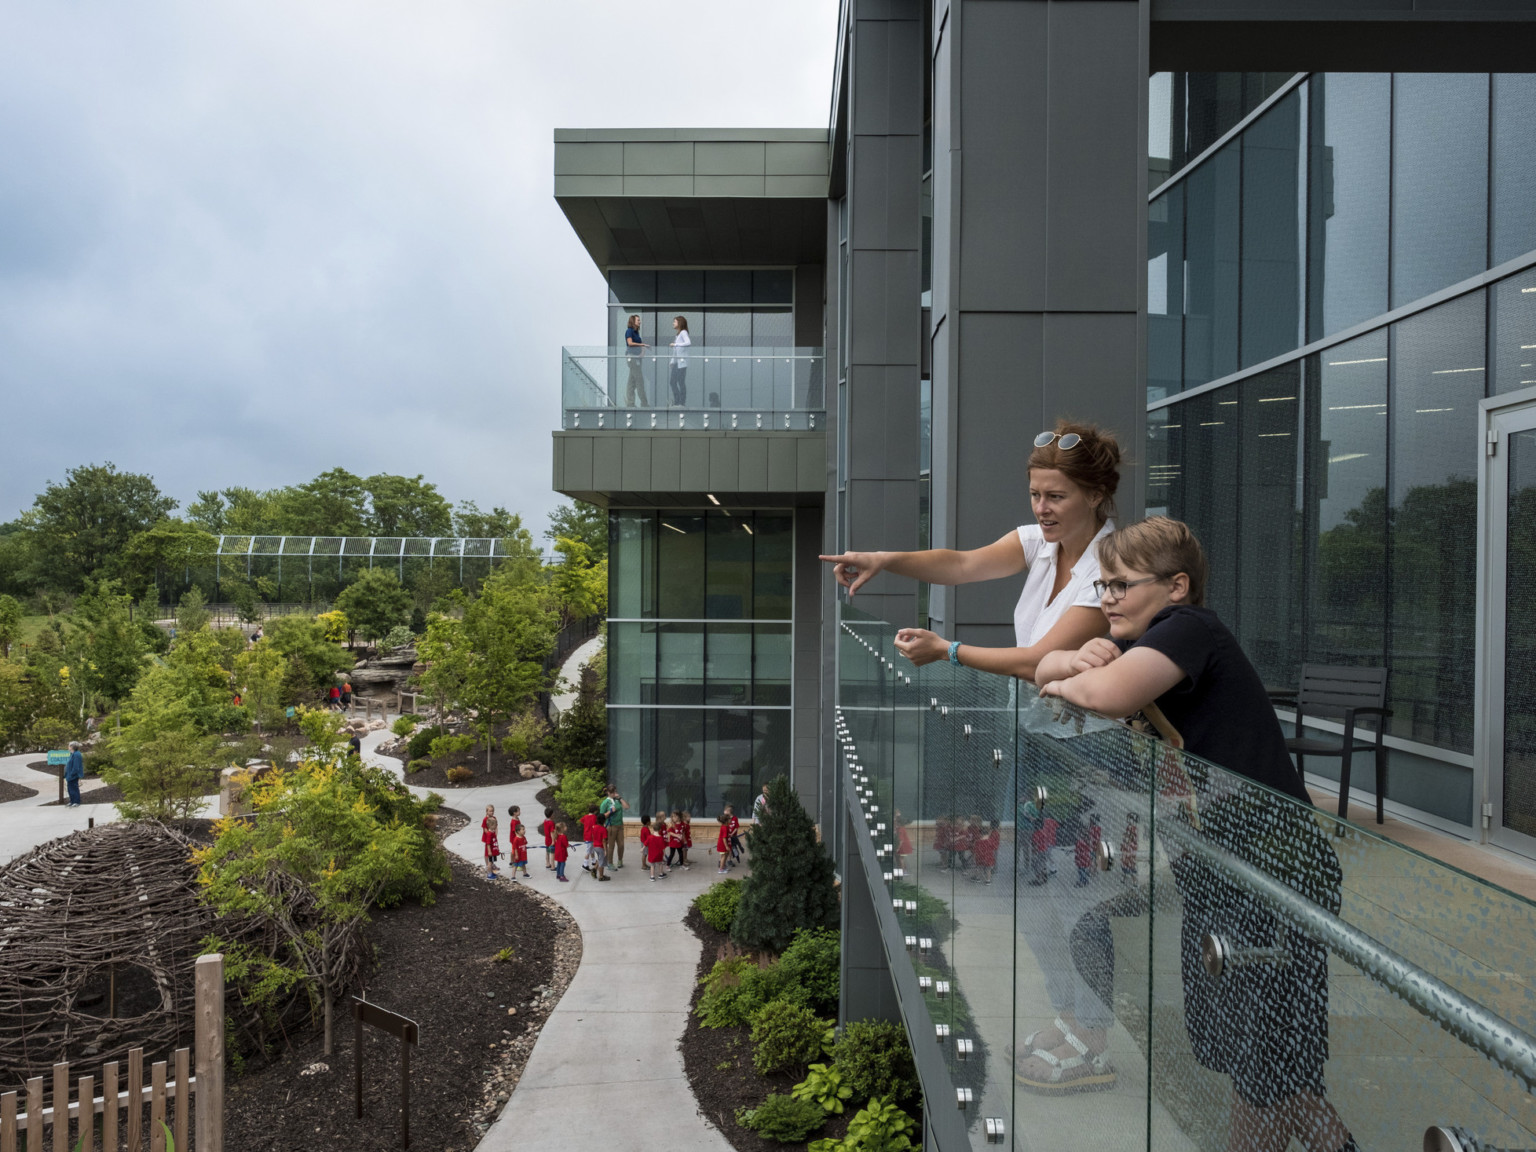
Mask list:
[[717,816],[790,771],[791,513],[614,511],[608,762],[637,811]]

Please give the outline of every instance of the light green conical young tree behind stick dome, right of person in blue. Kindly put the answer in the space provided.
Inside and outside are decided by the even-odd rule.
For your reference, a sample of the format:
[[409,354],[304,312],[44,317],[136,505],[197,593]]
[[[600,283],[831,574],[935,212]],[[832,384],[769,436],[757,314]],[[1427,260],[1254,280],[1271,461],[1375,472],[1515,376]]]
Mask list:
[[152,668],[123,708],[123,731],[111,737],[111,765],[101,774],[123,791],[118,811],[129,820],[186,820],[201,806],[223,760],[184,696],[187,677]]

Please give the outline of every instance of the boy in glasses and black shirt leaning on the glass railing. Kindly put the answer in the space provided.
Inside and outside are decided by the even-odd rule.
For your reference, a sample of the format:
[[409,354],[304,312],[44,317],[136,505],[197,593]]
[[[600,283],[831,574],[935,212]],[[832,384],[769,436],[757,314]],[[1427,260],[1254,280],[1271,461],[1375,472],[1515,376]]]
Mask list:
[[[1341,872],[1312,800],[1286,753],[1286,737],[1253,665],[1204,602],[1206,558],[1184,524],[1154,516],[1098,545],[1097,588],[1109,637],[1051,653],[1035,680],[1104,716],[1147,716],[1164,739],[1201,760],[1170,811],[1174,879],[1183,897],[1180,958],[1184,1025],[1195,1058],[1232,1077],[1229,1147],[1281,1152],[1292,1137],[1309,1152],[1355,1152],[1327,1101],[1329,975],[1322,945],[1284,929],[1267,906],[1218,874],[1203,856],[1180,854],[1175,829],[1253,865],[1338,912]],[[1177,757],[1177,754],[1172,754]],[[1246,780],[1264,785],[1253,788]],[[1160,793],[1169,797],[1166,782]],[[1256,963],[1212,978],[1201,963],[1207,934],[1238,946],[1279,948],[1286,963]]]

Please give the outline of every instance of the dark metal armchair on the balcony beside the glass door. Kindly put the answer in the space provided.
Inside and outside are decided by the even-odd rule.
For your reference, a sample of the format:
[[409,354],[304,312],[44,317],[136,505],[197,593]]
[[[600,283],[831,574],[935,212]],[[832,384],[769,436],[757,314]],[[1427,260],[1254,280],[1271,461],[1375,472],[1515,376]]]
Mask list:
[[[1387,670],[1349,668],[1329,664],[1301,665],[1301,687],[1296,691],[1270,691],[1272,703],[1289,703],[1296,710],[1296,734],[1286,740],[1286,750],[1296,757],[1296,771],[1306,773],[1307,756],[1339,757],[1339,816],[1349,814],[1349,777],[1355,753],[1376,756],[1376,823],[1385,823],[1387,799]],[[1304,736],[1306,717],[1339,720],[1344,734],[1338,737]],[[1375,717],[1373,739],[1358,739],[1356,717]]]

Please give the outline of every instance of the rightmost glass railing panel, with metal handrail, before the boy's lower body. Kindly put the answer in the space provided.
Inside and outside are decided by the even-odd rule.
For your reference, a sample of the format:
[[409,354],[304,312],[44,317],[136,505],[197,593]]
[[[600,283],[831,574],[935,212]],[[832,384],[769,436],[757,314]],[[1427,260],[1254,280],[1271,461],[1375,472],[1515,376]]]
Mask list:
[[1536,1147],[1536,906],[1157,748],[1154,1147]]

